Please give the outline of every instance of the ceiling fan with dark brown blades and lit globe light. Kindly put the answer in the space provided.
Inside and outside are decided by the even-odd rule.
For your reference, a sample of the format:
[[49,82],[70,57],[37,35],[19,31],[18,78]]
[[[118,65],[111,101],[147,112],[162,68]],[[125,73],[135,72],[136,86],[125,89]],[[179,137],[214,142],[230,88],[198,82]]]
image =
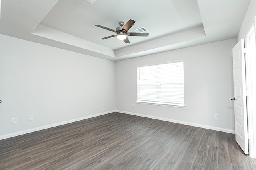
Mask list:
[[118,39],[123,40],[125,43],[130,43],[127,36],[147,37],[149,35],[148,33],[128,33],[128,30],[132,27],[132,25],[134,23],[135,23],[134,20],[129,20],[125,25],[124,25],[124,22],[119,22],[120,27],[117,27],[116,30],[110,29],[110,28],[107,28],[107,27],[103,27],[101,25],[95,25],[95,26],[116,33],[116,35],[110,35],[110,36],[104,37],[102,39],[117,37]]

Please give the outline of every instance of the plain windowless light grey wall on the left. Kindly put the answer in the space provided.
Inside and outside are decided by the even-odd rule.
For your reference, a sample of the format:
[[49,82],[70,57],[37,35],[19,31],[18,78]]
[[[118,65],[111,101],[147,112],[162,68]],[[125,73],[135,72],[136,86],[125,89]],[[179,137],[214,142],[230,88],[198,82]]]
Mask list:
[[1,35],[2,139],[111,113],[115,89],[113,61]]

